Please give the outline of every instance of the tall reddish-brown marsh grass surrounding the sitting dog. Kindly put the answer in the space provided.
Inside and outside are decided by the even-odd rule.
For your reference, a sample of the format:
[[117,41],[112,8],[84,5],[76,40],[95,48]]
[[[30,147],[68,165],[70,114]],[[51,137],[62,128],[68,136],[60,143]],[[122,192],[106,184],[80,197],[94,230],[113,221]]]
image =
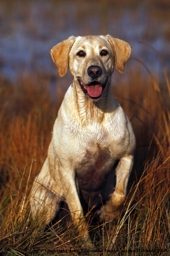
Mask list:
[[[118,222],[100,222],[92,212],[86,215],[91,240],[100,250],[97,255],[113,255],[114,250],[121,250],[121,255],[132,255],[128,250],[135,250],[136,255],[168,255],[170,96],[167,77],[162,83],[157,80],[157,87],[154,75],[150,75],[143,75],[142,66],[134,68],[129,71],[126,85],[120,80],[116,87],[112,86],[113,95],[133,125],[137,149],[127,200]],[[52,127],[66,89],[63,86],[68,84],[67,77],[62,84],[57,80],[58,101],[55,102],[49,93],[51,80],[39,74],[24,75],[18,78],[17,84],[0,78],[2,255],[61,255],[63,249],[67,252],[62,255],[80,255],[76,251],[70,253],[70,249],[83,248],[82,233],[71,221],[64,225],[58,219],[57,224],[52,223],[40,233],[45,217],[41,215],[33,220],[30,213],[31,184],[46,157]],[[140,248],[150,252],[137,251]]]

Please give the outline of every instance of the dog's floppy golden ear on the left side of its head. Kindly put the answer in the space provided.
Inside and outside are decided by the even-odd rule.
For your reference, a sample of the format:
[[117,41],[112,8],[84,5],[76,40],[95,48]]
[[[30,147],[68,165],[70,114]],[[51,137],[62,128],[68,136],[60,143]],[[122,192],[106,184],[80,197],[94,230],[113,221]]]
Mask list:
[[52,50],[50,50],[52,60],[58,67],[58,75],[63,77],[67,73],[69,64],[69,53],[71,47],[73,46],[75,37],[71,36],[67,40],[55,45]]

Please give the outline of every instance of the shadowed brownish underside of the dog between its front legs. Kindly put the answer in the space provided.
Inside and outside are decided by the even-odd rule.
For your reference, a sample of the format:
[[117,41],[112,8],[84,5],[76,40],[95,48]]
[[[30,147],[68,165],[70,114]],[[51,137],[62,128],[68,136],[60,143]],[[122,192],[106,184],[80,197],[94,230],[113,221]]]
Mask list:
[[103,184],[106,182],[114,163],[108,148],[86,149],[86,153],[76,169],[76,175],[79,189],[87,203],[89,198],[92,201],[97,197],[100,199]]

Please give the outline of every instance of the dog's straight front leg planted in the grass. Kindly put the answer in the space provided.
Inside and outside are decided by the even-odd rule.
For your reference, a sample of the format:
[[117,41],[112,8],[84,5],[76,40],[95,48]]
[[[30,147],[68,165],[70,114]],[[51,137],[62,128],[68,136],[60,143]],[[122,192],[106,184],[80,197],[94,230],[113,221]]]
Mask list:
[[76,188],[75,171],[71,165],[62,166],[59,171],[61,183],[63,184],[64,197],[68,204],[73,224],[82,230],[82,234],[88,246],[91,246],[91,240],[88,233],[88,228],[83,220],[83,210],[79,200],[78,191]]

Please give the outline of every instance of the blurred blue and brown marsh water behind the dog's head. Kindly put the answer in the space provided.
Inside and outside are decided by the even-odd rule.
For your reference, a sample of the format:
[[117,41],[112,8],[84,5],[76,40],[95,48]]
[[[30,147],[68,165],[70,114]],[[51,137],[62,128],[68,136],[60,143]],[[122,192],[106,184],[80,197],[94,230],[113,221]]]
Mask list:
[[127,41],[131,56],[161,77],[158,56],[139,43],[147,42],[170,72],[170,1],[6,0],[0,1],[0,76],[14,81],[37,70],[56,75],[49,50],[70,35],[88,34]]

